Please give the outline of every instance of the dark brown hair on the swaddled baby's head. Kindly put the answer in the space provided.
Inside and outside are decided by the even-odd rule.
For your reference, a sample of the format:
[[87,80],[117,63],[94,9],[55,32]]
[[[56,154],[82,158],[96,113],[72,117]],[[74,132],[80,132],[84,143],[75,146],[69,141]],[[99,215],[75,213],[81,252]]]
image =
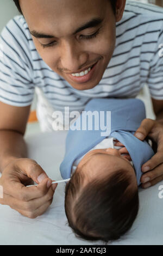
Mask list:
[[65,188],[65,212],[76,237],[106,243],[120,239],[139,211],[138,188],[130,175],[117,170],[83,186],[84,172],[76,172]]

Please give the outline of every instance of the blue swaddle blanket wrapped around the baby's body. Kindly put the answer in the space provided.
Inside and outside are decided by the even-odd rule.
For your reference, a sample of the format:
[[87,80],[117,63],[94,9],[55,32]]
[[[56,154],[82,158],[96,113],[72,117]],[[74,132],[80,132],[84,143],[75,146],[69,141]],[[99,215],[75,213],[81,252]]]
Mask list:
[[[112,99],[97,98],[90,100],[84,111],[101,111],[111,112],[110,136],[118,139],[127,148],[135,167],[137,185],[141,184],[142,175],[141,166],[154,155],[154,151],[146,141],[140,141],[134,136],[135,131],[139,128],[141,121],[146,118],[144,103],[139,99]],[[70,130],[66,138],[66,152],[64,160],[60,164],[60,173],[63,179],[71,176],[73,162],[95,147],[106,136],[101,136],[104,130],[97,122],[99,119],[92,120],[92,130],[82,130],[79,126],[82,123],[82,115],[73,125],[76,130]],[[95,127],[99,127],[98,130]],[[86,126],[87,127],[87,126]],[[78,129],[79,128],[79,129]]]

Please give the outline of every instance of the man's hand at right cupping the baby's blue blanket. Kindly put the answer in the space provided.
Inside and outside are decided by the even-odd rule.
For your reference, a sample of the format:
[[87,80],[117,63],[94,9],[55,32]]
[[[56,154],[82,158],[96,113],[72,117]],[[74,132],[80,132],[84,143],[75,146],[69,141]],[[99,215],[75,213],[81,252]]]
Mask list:
[[142,188],[153,186],[163,179],[163,125],[159,121],[144,119],[135,136],[143,141],[147,136],[157,144],[156,154],[142,165]]

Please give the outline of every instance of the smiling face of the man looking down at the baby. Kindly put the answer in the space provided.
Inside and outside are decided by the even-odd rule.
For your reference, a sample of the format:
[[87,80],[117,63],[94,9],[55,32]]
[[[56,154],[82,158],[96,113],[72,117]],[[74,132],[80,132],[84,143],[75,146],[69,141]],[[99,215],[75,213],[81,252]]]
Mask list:
[[108,0],[20,0],[20,5],[41,58],[73,88],[86,90],[101,81],[112,57],[125,2],[117,0],[116,16]]

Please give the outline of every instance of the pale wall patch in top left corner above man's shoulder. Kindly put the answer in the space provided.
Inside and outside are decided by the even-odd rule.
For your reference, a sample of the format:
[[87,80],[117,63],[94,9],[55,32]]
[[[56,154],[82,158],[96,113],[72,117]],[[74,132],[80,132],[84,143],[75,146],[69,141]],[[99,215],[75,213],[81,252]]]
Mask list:
[[[27,0],[28,1],[28,0]],[[19,14],[12,0],[0,0],[0,32],[7,22]]]

